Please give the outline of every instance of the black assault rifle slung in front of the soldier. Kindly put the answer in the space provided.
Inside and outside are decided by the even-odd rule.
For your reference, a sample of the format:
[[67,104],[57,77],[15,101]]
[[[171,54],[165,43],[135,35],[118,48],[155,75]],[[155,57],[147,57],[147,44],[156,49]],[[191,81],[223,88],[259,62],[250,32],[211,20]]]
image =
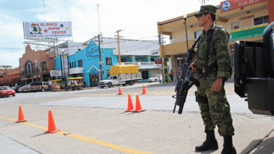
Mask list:
[[[182,114],[186,96],[188,95],[188,89],[190,89],[191,86],[193,86],[193,84],[191,84],[191,82],[189,82],[189,79],[191,78],[190,73],[192,70],[189,66],[191,64],[191,63],[189,63],[189,61],[192,60],[192,58],[196,54],[196,52],[194,51],[194,47],[195,47],[196,43],[198,42],[198,40],[193,44],[193,46],[190,49],[188,49],[188,56],[187,56],[184,64],[179,66],[179,71],[177,74],[177,84],[175,87],[175,92],[177,92],[177,93],[176,93],[176,95],[172,96],[173,98],[176,99],[173,113],[175,113],[176,106],[178,105],[179,106],[178,114]],[[194,82],[192,82],[192,83],[194,83]]]

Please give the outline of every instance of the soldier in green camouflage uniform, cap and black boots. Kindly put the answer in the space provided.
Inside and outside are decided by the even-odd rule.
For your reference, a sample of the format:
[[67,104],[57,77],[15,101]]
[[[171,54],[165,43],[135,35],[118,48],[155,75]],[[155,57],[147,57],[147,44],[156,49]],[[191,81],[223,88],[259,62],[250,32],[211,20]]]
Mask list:
[[[224,81],[230,78],[230,50],[229,33],[222,26],[215,26],[217,7],[214,5],[201,6],[199,12],[194,13],[198,20],[198,26],[204,30],[200,34],[198,42],[198,56],[191,64],[192,72],[206,67],[207,38],[209,31],[215,29],[213,38],[209,44],[208,65],[216,65],[215,70],[210,71],[199,79],[200,86],[198,94],[203,101],[199,101],[202,119],[205,125],[206,141],[202,145],[196,146],[196,151],[217,150],[218,142],[215,138],[214,128],[218,126],[218,132],[224,138],[223,151],[221,154],[236,154],[236,149],[232,144],[234,127],[230,114],[230,106],[227,101]],[[199,71],[198,71],[199,72]],[[202,73],[198,74],[198,77]]]

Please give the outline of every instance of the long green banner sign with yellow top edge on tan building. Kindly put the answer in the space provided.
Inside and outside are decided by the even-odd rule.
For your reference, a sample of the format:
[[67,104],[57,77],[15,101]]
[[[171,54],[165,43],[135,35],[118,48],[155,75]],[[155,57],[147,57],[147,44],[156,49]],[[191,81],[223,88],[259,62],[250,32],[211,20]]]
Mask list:
[[268,23],[227,31],[230,41],[262,36]]

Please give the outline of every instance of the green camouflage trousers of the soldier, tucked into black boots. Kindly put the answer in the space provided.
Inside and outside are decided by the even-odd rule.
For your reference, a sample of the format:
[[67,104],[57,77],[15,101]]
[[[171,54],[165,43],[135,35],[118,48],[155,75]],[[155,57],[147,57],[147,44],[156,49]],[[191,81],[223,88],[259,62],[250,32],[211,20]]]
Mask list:
[[214,92],[211,88],[198,89],[199,95],[208,98],[208,103],[199,102],[205,128],[214,130],[217,125],[220,136],[232,136],[234,135],[234,127],[224,85],[220,92]]

